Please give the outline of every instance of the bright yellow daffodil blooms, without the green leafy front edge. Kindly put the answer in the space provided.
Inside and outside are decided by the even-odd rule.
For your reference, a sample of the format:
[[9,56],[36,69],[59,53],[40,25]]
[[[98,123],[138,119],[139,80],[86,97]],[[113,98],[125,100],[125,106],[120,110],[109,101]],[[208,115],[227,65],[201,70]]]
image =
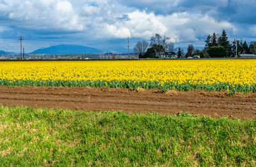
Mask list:
[[[0,62],[2,81],[127,81],[255,86],[256,60]],[[144,83],[146,84],[146,83]]]

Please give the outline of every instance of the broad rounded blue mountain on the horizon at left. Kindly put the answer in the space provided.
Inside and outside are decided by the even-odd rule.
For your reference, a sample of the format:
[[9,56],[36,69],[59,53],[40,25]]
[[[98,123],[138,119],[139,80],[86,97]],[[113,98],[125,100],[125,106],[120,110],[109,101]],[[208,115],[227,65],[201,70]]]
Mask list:
[[38,49],[31,54],[99,54],[102,51],[93,47],[82,45],[55,45],[44,49]]

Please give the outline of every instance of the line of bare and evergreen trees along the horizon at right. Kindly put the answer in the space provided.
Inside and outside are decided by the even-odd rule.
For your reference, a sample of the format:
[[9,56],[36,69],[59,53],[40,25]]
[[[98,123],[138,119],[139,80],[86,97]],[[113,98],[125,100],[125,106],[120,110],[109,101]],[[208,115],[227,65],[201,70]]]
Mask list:
[[195,47],[190,44],[188,45],[188,50],[186,54],[180,47],[175,49],[174,44],[170,42],[170,37],[162,36],[156,34],[150,38],[150,43],[146,41],[139,41],[134,46],[134,54],[138,54],[139,58],[162,58],[166,52],[176,52],[177,57],[182,58],[189,56],[198,55],[200,58],[211,57],[211,58],[221,58],[221,57],[234,57],[239,54],[256,54],[256,42],[250,44],[243,40],[236,40],[230,42],[225,30],[222,31],[221,35],[208,35],[205,40],[205,47],[202,51],[195,49]]

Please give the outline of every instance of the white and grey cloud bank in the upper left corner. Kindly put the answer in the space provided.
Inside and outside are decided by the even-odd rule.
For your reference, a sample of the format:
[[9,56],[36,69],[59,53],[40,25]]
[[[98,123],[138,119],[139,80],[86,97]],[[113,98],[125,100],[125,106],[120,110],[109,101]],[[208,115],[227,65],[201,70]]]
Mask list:
[[[84,25],[67,0],[3,0],[0,12],[19,22],[21,28],[81,31]],[[15,26],[18,26],[15,25]]]

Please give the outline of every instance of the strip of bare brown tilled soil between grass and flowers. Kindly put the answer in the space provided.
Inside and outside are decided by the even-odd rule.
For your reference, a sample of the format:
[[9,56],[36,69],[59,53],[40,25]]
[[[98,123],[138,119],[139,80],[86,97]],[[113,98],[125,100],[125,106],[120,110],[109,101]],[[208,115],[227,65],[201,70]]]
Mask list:
[[128,90],[106,88],[52,88],[0,86],[0,105],[83,109],[86,111],[158,112],[186,111],[198,116],[256,118],[256,93]]

